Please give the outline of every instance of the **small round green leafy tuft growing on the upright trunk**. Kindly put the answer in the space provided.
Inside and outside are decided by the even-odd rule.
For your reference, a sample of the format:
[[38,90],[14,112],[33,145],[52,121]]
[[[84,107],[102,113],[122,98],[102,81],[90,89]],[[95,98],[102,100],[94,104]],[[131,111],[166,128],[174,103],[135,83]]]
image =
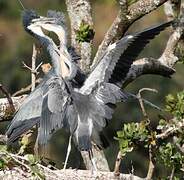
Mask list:
[[89,24],[82,22],[79,30],[76,33],[76,40],[78,42],[90,42],[94,38],[95,32]]

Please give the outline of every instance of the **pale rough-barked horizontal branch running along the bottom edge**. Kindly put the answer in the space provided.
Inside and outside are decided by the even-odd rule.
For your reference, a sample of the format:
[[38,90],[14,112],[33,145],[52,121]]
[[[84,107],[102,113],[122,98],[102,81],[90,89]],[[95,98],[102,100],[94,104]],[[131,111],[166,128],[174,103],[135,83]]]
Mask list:
[[[140,178],[138,176],[134,176],[132,174],[120,174],[119,176],[115,176],[113,172],[92,172],[90,170],[48,170],[44,171],[46,180],[143,180],[144,178]],[[31,173],[25,173],[25,171],[20,169],[14,169],[10,171],[0,171],[0,179],[1,180],[27,180],[31,179]]]

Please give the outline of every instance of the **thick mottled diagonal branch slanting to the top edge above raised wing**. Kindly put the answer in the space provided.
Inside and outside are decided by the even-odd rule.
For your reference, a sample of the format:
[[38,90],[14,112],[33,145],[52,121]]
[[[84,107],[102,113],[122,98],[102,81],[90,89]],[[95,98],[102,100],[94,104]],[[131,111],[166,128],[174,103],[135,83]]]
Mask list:
[[132,23],[143,17],[145,14],[155,10],[166,1],[167,0],[139,0],[138,2],[128,7],[128,10],[126,10],[126,1],[121,1],[123,2],[123,5],[120,6],[120,10],[116,19],[105,34],[104,40],[98,48],[92,66],[95,66],[95,64],[98,63],[104,51],[111,43],[123,37]]

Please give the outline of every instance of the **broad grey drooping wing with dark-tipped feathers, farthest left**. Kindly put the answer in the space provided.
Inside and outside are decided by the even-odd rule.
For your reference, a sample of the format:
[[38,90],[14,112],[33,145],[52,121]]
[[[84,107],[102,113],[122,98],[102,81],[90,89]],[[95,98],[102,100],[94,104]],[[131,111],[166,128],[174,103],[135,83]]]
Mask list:
[[39,122],[43,102],[42,86],[45,84],[45,80],[24,100],[15,114],[6,132],[8,143],[15,141]]

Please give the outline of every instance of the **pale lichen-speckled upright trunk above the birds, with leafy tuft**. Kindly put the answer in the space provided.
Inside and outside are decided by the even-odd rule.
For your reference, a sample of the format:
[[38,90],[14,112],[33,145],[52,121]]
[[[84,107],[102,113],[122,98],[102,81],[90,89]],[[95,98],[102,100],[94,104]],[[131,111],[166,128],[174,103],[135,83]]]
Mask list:
[[91,5],[88,0],[66,0],[66,5],[71,21],[71,43],[81,56],[81,70],[87,73],[91,64],[92,42],[78,42],[76,32],[79,31],[81,23],[93,28]]

